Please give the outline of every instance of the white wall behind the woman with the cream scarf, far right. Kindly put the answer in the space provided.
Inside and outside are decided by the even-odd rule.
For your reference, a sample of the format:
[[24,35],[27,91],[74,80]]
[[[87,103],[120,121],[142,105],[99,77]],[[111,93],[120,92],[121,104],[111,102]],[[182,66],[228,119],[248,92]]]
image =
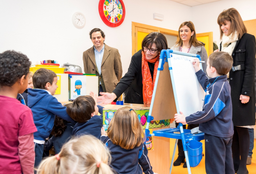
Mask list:
[[224,9],[235,8],[243,20],[256,18],[256,0],[221,0],[192,7],[192,22],[197,33],[213,32],[213,41],[219,47],[220,31],[217,23],[218,15]]

